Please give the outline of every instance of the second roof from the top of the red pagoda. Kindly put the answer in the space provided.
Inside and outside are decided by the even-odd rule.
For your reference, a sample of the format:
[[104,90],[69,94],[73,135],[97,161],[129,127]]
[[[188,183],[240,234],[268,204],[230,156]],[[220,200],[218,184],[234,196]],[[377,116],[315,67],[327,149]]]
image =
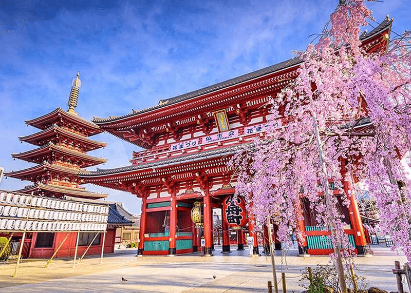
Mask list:
[[57,124],[53,124],[50,127],[41,130],[39,132],[27,135],[27,136],[20,136],[18,139],[20,139],[21,141],[33,144],[33,145],[38,145],[41,146],[43,145],[42,142],[40,142],[40,140],[42,139],[46,139],[46,138],[50,138],[52,136],[55,136],[56,134],[59,134],[63,137],[67,137],[70,138],[72,140],[78,141],[78,142],[82,142],[84,144],[87,145],[85,151],[90,151],[90,150],[95,150],[101,147],[105,147],[107,145],[107,143],[103,143],[103,142],[99,142],[99,141],[94,141],[94,140],[90,140],[88,138],[86,138],[83,135],[74,133],[72,131],[66,130],[60,126],[58,126]]

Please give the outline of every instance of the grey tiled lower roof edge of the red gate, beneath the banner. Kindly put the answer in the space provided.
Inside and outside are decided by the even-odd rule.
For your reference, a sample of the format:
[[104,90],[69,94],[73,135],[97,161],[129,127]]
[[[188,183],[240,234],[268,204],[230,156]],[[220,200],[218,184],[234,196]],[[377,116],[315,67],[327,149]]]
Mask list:
[[131,165],[131,166],[125,166],[125,167],[120,167],[120,168],[114,168],[114,169],[100,169],[97,168],[97,171],[87,171],[87,172],[80,172],[79,177],[80,178],[90,178],[90,177],[97,177],[100,175],[108,175],[108,174],[115,174],[115,173],[122,173],[122,172],[127,172],[127,171],[133,171],[133,170],[139,170],[139,169],[145,169],[145,168],[153,168],[153,167],[161,167],[164,165],[176,165],[178,163],[183,163],[186,161],[190,160],[201,160],[202,158],[208,158],[209,156],[213,155],[230,155],[235,153],[238,149],[247,146],[252,143],[245,143],[245,144],[239,144],[239,145],[231,145],[228,147],[223,147],[223,148],[218,148],[218,149],[213,149],[213,150],[206,150],[202,152],[196,152],[194,154],[185,154],[185,155],[179,155],[178,157],[175,158],[170,158],[170,159],[165,159],[165,160],[159,160],[155,162],[149,162],[149,163],[144,163],[144,164],[138,164],[138,165]]

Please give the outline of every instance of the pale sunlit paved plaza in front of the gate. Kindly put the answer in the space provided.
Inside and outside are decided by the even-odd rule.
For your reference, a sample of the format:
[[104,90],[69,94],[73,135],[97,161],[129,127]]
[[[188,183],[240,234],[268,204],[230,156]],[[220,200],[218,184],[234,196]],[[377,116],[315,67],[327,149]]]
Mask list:
[[[394,261],[406,261],[402,253],[389,248],[373,247],[372,257],[356,258],[357,274],[372,286],[396,291],[391,269]],[[15,264],[0,265],[0,292],[267,292],[272,280],[271,259],[248,256],[248,250],[202,257],[200,253],[183,256],[136,257],[135,249],[117,250],[99,258],[87,258],[73,268],[73,260],[55,260],[44,268],[45,260],[24,260],[17,278],[11,277]],[[306,266],[327,264],[328,257],[298,257],[296,249],[288,250],[286,259],[276,251],[276,269],[281,290],[281,272],[286,273],[287,291],[300,292],[301,270]],[[215,277],[215,278],[214,278]],[[127,281],[122,281],[124,278]],[[407,284],[404,283],[407,290]]]

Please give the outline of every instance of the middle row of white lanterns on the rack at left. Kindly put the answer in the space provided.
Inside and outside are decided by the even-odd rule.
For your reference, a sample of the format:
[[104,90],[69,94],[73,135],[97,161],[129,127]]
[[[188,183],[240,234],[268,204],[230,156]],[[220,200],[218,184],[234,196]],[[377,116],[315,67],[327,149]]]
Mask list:
[[99,222],[106,223],[108,216],[80,212],[64,212],[44,209],[29,209],[16,206],[0,205],[0,217],[17,217],[24,219],[44,219],[58,221]]

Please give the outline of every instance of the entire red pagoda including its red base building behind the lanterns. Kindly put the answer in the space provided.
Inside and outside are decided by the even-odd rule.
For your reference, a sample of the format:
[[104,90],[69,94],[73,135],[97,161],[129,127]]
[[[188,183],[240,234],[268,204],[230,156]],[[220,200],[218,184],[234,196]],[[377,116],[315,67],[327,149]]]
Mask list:
[[[102,130],[96,124],[80,118],[74,112],[80,86],[78,73],[71,87],[68,111],[57,108],[39,118],[26,121],[27,125],[38,128],[40,131],[21,137],[20,140],[38,147],[26,152],[12,154],[12,157],[36,165],[24,170],[5,173],[7,177],[33,183],[15,192],[63,200],[67,198],[69,201],[105,204],[95,200],[106,198],[107,194],[90,192],[80,186],[79,172],[82,168],[106,162],[105,159],[87,154],[88,151],[106,146],[106,143],[89,139],[89,136],[101,133]],[[108,226],[105,233],[106,241],[103,240],[103,233],[100,233],[88,250],[88,254],[100,253],[102,243],[105,243],[104,252],[114,251],[116,228],[121,225],[132,225],[132,222],[127,220],[118,220],[117,213],[117,210],[110,206]],[[114,222],[111,221],[113,219]],[[26,249],[25,257],[51,257],[54,249],[59,246],[66,234],[66,232],[29,233],[26,242],[29,242],[28,247],[30,248]],[[78,241],[80,243],[80,252],[85,250],[95,234],[95,232],[80,233]],[[18,241],[19,235],[21,233],[15,234],[15,241]],[[76,238],[77,232],[71,232],[59,251],[58,257],[73,256]]]

